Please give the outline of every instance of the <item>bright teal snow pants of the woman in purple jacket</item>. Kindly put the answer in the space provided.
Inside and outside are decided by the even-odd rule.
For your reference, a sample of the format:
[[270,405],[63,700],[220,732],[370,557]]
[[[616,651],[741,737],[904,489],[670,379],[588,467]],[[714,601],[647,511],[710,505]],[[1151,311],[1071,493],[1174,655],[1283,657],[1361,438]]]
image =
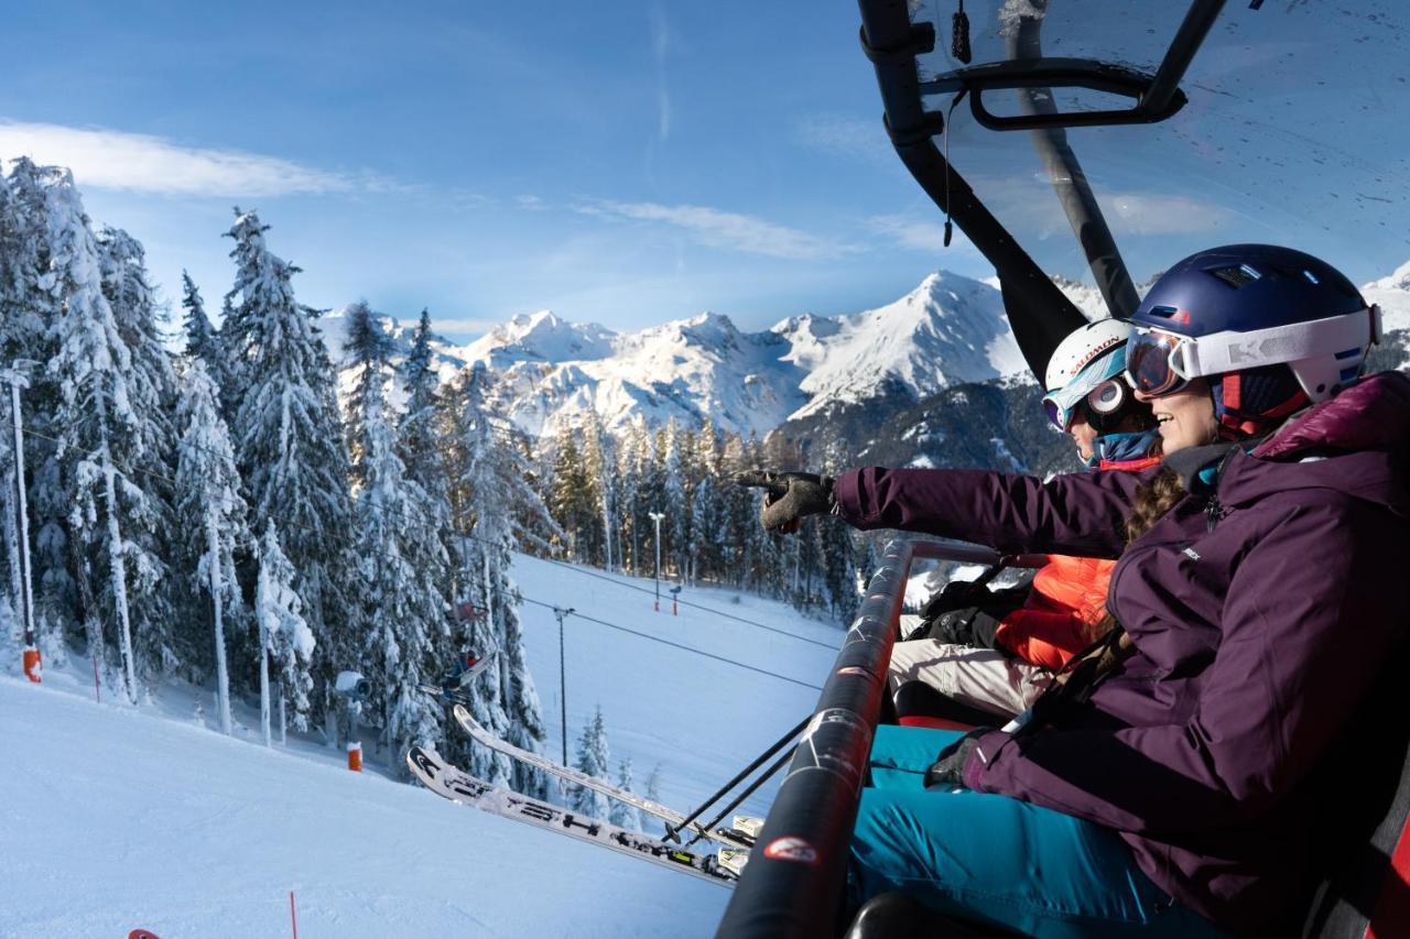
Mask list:
[[926,791],[925,770],[959,736],[877,728],[852,836],[856,904],[902,891],[1042,938],[1224,935],[1152,884],[1111,829],[1007,795]]

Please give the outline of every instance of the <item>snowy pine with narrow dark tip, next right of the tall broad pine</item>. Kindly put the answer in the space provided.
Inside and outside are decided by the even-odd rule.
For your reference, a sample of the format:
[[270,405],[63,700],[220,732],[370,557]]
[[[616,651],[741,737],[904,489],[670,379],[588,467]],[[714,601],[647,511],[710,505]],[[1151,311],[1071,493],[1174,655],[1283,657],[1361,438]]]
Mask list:
[[365,303],[348,313],[348,365],[357,374],[352,440],[358,557],[367,589],[362,671],[372,684],[374,713],[399,768],[413,746],[436,746],[444,711],[422,689],[450,661],[447,603],[450,561],[441,547],[439,513],[396,455],[386,417],[391,343]]

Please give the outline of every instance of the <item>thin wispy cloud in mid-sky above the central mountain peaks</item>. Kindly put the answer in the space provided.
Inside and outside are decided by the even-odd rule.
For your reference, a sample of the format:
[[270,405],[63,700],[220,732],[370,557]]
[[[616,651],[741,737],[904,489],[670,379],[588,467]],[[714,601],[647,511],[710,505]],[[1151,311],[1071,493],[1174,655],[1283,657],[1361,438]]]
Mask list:
[[760,254],[788,261],[815,261],[850,254],[857,248],[821,238],[798,228],[773,221],[721,211],[708,206],[663,206],[651,202],[595,200],[575,206],[589,216],[606,216],[632,221],[650,221],[681,228],[699,244],[711,248]]

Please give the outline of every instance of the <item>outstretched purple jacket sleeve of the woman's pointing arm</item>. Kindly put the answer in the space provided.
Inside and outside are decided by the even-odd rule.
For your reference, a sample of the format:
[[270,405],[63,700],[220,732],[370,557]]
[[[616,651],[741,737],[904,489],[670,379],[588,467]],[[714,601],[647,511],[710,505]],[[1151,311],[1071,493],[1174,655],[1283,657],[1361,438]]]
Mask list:
[[1005,553],[1117,557],[1146,472],[1080,472],[1042,482],[980,470],[884,470],[838,477],[838,515],[859,529],[901,529]]

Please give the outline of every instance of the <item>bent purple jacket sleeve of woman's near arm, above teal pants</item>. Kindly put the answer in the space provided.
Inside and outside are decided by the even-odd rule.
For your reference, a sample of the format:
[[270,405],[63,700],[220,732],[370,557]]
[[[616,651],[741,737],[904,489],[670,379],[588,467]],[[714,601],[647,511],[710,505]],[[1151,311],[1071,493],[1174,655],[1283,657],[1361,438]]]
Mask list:
[[966,782],[1151,835],[1266,812],[1327,751],[1403,633],[1390,548],[1404,532],[1387,524],[1383,509],[1349,499],[1287,508],[1230,584],[1187,723],[990,733]]

